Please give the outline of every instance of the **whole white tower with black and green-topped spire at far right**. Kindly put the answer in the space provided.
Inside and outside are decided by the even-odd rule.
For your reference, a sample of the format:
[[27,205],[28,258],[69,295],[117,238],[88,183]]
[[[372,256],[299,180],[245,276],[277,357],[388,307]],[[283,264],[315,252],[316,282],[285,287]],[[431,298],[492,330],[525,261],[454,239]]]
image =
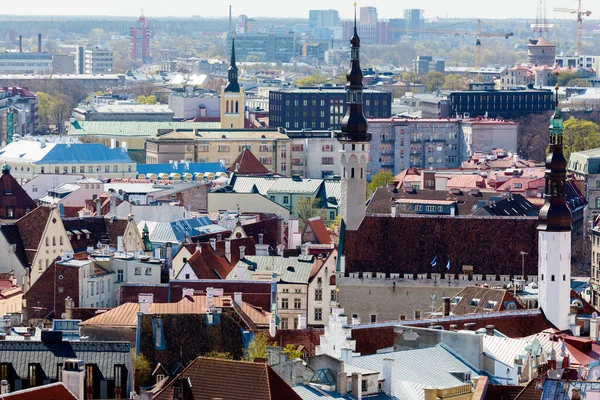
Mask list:
[[539,304],[546,318],[567,330],[571,307],[571,211],[566,203],[567,160],[563,155],[563,117],[550,119],[550,155],[546,159],[546,194],[539,214]]

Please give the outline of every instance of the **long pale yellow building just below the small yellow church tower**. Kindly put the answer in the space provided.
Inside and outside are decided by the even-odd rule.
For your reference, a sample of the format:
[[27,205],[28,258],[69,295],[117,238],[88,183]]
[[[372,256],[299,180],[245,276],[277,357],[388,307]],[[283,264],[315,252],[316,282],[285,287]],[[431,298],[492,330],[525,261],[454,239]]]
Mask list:
[[270,171],[287,175],[291,163],[290,139],[278,130],[174,130],[148,139],[146,163],[221,162],[228,167],[244,150]]

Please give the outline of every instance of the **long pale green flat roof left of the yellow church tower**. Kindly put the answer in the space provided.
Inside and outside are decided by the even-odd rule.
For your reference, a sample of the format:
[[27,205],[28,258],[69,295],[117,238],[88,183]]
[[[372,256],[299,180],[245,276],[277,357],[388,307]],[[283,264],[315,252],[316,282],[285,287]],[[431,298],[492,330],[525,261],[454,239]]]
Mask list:
[[220,122],[119,122],[75,121],[69,125],[69,135],[96,136],[156,136],[159,129],[220,129]]

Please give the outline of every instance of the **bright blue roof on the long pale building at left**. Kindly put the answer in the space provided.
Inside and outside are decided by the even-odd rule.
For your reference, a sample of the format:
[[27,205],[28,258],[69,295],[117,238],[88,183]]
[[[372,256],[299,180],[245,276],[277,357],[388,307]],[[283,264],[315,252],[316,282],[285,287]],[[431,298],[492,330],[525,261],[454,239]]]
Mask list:
[[40,163],[90,164],[90,163],[131,163],[127,151],[109,149],[100,143],[57,143]]

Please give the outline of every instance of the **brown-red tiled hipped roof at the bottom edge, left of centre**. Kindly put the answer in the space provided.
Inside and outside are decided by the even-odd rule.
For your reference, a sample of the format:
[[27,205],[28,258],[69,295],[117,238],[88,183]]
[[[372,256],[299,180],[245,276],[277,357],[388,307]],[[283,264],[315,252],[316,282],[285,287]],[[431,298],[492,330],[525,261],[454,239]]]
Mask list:
[[174,386],[181,378],[190,382],[188,390],[194,399],[301,400],[266,363],[205,357],[196,358],[154,399],[173,399]]

